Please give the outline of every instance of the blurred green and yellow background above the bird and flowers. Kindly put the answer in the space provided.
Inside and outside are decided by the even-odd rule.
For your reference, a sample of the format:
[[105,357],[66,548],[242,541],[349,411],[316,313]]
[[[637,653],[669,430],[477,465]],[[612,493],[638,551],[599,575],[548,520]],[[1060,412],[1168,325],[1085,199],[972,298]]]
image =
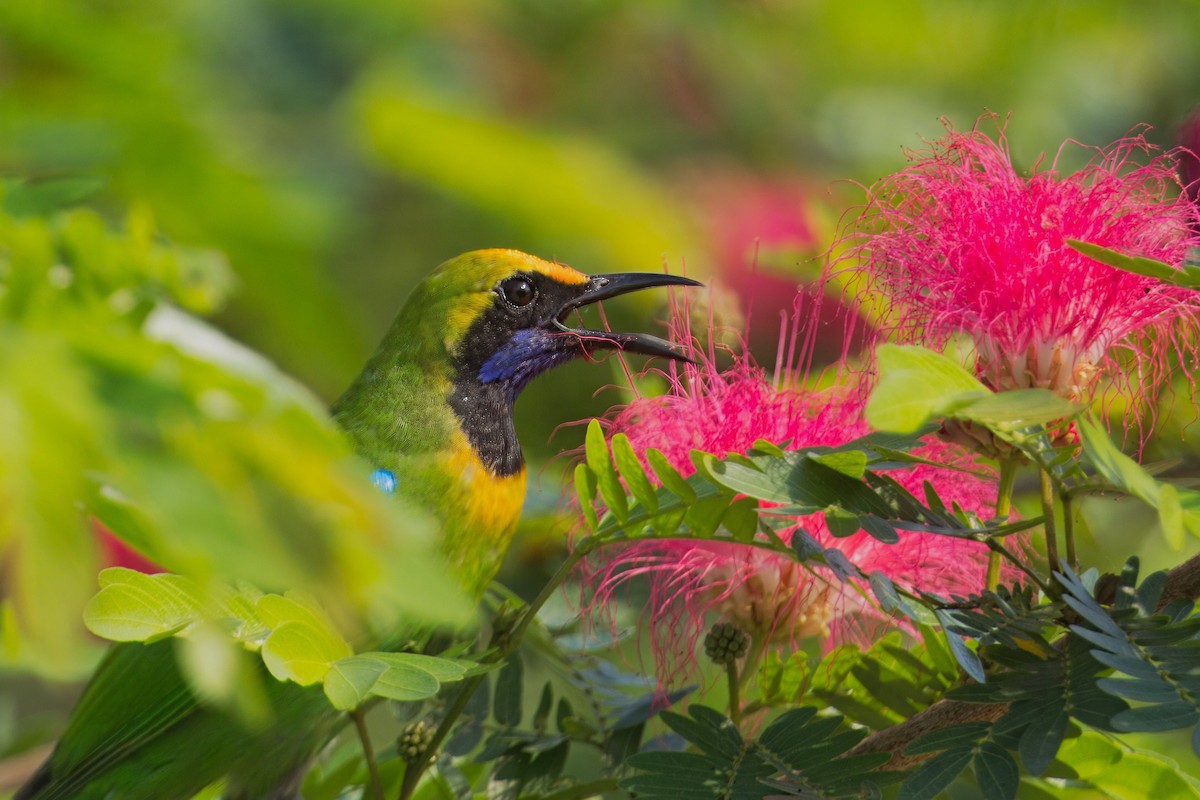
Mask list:
[[[834,181],[941,116],[1010,112],[1021,164],[1139,122],[1168,144],[1198,31],[1178,0],[4,2],[0,170],[95,176],[114,218],[226,253],[218,324],[331,399],[466,249],[737,283],[756,237],[766,273],[823,249],[860,197]],[[535,456],[610,378],[530,390]]]

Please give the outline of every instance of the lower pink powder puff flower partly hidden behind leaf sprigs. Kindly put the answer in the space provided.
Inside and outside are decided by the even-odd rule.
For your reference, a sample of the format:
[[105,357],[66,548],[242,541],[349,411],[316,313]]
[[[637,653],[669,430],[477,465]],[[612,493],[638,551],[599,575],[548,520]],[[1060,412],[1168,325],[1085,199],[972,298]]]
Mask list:
[[[799,308],[796,314],[802,318]],[[674,341],[688,338],[678,330],[685,318],[676,314]],[[810,325],[802,338],[793,327],[787,363],[808,363],[816,330]],[[682,377],[673,373],[670,393],[638,398],[619,410],[610,420],[610,434],[628,435],[638,455],[652,447],[661,451],[688,475],[694,471],[694,449],[726,456],[746,451],[757,439],[805,447],[839,445],[869,433],[863,392],[845,381],[808,390],[794,369],[776,368],[773,383],[746,355],[724,372],[715,366],[715,353],[694,345],[690,355],[696,365],[684,367]],[[962,450],[938,440],[930,440],[919,455],[968,465]],[[992,516],[996,489],[978,475],[929,465],[890,475],[918,495],[929,481],[947,505],[958,504],[982,518]],[[835,539],[821,513],[796,518],[780,535],[790,542],[799,528],[822,546],[839,548],[866,573],[878,571],[910,589],[967,595],[984,585],[988,549],[979,542],[916,531],[900,531],[898,545],[884,545],[864,531]],[[656,540],[613,547],[599,552],[583,571],[584,604],[593,614],[611,608],[634,579],[648,581],[644,613],[664,684],[683,678],[695,664],[697,639],[714,616],[737,624],[760,645],[818,636],[827,650],[868,642],[893,621],[865,587],[844,583],[826,567],[728,542]],[[1004,577],[1014,579],[1015,571]]]

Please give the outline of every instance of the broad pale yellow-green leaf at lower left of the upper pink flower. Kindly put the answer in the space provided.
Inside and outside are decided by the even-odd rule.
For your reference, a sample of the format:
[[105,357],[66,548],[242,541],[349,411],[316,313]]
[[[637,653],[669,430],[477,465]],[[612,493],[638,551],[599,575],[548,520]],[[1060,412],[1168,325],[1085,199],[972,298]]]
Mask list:
[[878,381],[866,402],[866,421],[880,431],[911,433],[991,393],[958,362],[923,347],[881,344],[875,357]]

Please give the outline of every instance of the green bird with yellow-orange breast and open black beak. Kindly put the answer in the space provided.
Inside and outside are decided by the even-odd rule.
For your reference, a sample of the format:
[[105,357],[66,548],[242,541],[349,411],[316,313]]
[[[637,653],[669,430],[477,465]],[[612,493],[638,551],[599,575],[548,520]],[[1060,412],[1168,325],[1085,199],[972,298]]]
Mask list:
[[[413,291],[332,407],[377,483],[428,509],[440,551],[474,597],[494,577],[526,489],[512,405],[536,375],[593,350],[685,360],[644,333],[571,327],[571,313],[649,287],[700,285],[648,272],[588,276],[511,249],[466,253]],[[247,727],[197,698],[170,639],[118,644],[61,740],[14,800],[172,800],[227,781],[226,796],[295,796],[304,766],[344,723],[318,686],[265,675],[272,717]]]

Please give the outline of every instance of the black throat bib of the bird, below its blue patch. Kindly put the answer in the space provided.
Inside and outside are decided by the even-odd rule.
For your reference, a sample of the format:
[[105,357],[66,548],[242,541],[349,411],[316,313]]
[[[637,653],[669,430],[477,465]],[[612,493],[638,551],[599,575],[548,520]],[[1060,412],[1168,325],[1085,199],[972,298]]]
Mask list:
[[511,391],[499,383],[460,377],[446,398],[484,467],[498,477],[524,469],[524,456],[512,423]]

